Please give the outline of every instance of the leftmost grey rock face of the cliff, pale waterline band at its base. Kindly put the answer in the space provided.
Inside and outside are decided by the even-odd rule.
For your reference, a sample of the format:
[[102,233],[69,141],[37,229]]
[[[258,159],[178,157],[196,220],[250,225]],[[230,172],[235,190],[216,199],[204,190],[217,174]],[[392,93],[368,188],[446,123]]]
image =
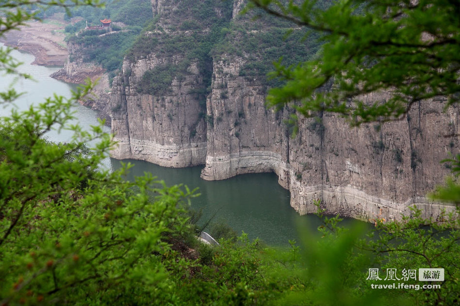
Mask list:
[[[206,126],[197,95],[190,93],[202,82],[197,65],[192,64],[182,80],[175,79],[166,95],[139,94],[131,85],[161,61],[149,57],[123,63],[123,75],[114,80],[111,99],[112,131],[119,142],[111,155],[169,167],[202,164],[206,156]],[[127,71],[131,71],[130,76]]]

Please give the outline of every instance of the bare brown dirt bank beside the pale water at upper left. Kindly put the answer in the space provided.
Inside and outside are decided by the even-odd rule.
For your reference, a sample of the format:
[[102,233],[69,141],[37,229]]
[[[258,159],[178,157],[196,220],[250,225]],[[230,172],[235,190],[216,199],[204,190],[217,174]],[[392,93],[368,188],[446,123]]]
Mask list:
[[35,56],[32,64],[62,66],[67,60],[64,42],[66,23],[57,19],[31,21],[19,30],[9,31],[0,37],[0,42]]

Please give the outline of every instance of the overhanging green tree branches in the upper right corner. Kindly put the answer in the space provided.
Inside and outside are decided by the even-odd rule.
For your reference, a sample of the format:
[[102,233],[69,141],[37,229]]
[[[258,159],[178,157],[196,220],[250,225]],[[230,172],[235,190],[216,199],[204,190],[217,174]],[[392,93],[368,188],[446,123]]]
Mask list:
[[[292,101],[304,115],[340,113],[351,125],[403,117],[417,101],[459,101],[460,4],[456,0],[250,0],[293,26],[322,33],[315,59],[273,76],[286,85],[270,91],[269,106]],[[302,48],[302,42],[299,42]],[[333,90],[328,90],[332,86]],[[388,91],[372,104],[363,95]]]

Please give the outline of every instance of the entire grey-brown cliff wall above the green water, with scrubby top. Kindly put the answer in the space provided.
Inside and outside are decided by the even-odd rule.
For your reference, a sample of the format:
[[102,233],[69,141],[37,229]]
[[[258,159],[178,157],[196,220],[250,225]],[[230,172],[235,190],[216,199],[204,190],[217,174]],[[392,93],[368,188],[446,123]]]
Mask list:
[[[457,136],[444,137],[459,134],[456,106],[444,113],[444,101],[424,101],[403,120],[359,129],[318,113],[300,117],[293,138],[293,111],[264,104],[268,86],[276,86],[265,78],[267,56],[278,56],[273,36],[284,35],[283,25],[250,28],[245,18],[235,19],[243,2],[211,7],[202,14],[208,19],[200,10],[211,2],[152,1],[159,21],[114,79],[110,113],[119,145],[113,157],[171,167],[205,164],[201,177],[208,180],[275,172],[301,214],[316,211],[318,199],[329,213],[364,220],[399,219],[411,214],[412,204],[425,217],[453,209],[428,203],[425,195],[449,174],[439,161],[459,148]],[[212,58],[208,49],[200,51],[210,44]]]

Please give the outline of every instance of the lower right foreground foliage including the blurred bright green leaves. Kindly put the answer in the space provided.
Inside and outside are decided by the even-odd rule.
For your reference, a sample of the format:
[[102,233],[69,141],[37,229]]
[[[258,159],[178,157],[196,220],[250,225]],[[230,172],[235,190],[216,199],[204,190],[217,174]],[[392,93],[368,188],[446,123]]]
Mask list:
[[[416,208],[412,213],[411,218],[402,221],[376,220],[376,226],[369,230],[359,223],[345,228],[338,216],[329,218],[318,210],[325,222],[318,228],[321,236],[304,231],[304,248],[297,251],[291,274],[297,276],[290,284],[297,290],[285,290],[279,305],[457,305],[460,210],[444,214],[437,221],[420,218],[421,211]],[[304,269],[299,270],[302,266]],[[368,280],[369,268],[378,268],[381,280]],[[444,268],[444,282],[402,278],[404,269],[419,268]],[[390,269],[396,269],[399,281],[385,280]],[[393,283],[413,288],[371,287]],[[422,288],[435,284],[441,289]]]

